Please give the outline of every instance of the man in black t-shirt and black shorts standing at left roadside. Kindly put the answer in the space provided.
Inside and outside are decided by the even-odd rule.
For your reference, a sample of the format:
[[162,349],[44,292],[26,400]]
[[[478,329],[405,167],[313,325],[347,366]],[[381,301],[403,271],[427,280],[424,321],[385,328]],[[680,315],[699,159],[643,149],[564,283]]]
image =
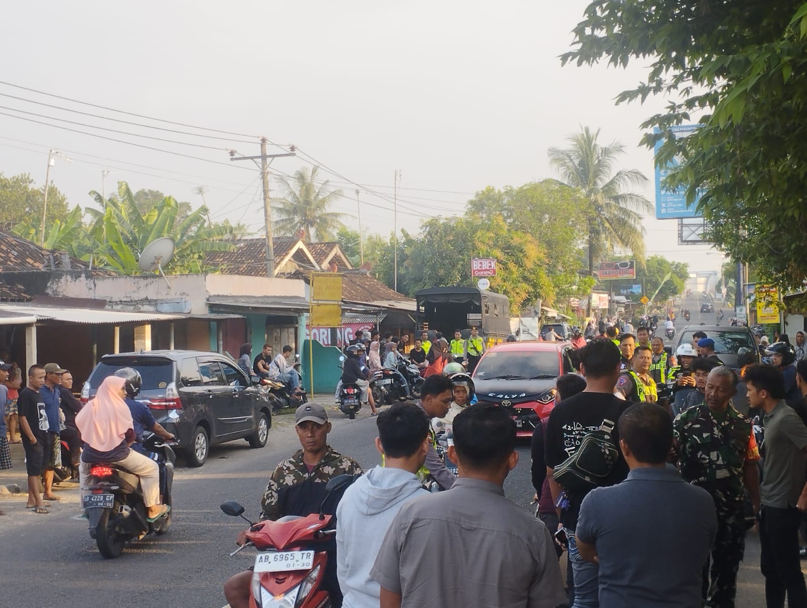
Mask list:
[[48,415],[45,400],[40,388],[45,383],[45,369],[42,365],[31,365],[28,369],[28,386],[19,391],[17,409],[19,431],[23,437],[25,468],[28,475],[28,509],[36,513],[48,513],[40,495],[40,475],[48,468],[52,445],[48,443]]

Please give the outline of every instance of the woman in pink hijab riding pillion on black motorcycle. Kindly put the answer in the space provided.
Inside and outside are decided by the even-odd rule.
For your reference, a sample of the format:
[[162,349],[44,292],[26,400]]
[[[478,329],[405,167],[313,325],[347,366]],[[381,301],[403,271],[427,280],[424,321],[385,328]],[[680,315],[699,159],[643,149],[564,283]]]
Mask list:
[[[140,477],[143,502],[148,511],[148,521],[167,514],[171,508],[160,504],[160,473],[157,462],[129,448],[135,441],[132,412],[123,397],[126,380],[108,376],[98,386],[95,399],[76,414],[76,427],[82,433],[84,450],[78,475],[83,488],[90,476],[91,465],[98,462],[114,463]],[[82,499],[83,500],[83,499]]]

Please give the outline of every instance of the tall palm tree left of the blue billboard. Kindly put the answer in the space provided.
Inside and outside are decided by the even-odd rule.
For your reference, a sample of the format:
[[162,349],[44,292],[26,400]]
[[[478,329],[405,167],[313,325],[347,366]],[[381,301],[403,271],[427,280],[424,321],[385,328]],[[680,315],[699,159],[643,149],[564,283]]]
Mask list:
[[[645,196],[623,192],[633,185],[647,183],[638,169],[620,169],[613,173],[617,156],[625,154],[625,146],[613,141],[600,146],[600,129],[592,132],[584,127],[580,133],[567,137],[571,146],[561,150],[550,148],[550,165],[562,176],[564,183],[583,193],[588,201],[585,213],[588,249],[588,270],[594,276],[594,264],[604,260],[617,247],[632,251],[640,260],[645,255],[645,231],[642,213],[650,213],[653,205]],[[588,298],[587,314],[591,315],[592,298]]]

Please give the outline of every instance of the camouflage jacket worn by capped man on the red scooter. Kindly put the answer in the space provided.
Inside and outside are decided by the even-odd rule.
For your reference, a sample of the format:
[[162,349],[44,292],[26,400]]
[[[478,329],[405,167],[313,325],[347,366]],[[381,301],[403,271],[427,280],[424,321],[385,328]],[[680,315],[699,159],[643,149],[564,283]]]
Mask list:
[[[325,446],[325,455],[309,473],[303,462],[303,450],[298,450],[275,468],[261,499],[261,519],[276,520],[284,515],[309,515],[319,513],[325,500],[325,484],[337,475],[361,475],[358,462],[342,456],[330,445]],[[324,512],[337,513],[340,496],[331,496]]]

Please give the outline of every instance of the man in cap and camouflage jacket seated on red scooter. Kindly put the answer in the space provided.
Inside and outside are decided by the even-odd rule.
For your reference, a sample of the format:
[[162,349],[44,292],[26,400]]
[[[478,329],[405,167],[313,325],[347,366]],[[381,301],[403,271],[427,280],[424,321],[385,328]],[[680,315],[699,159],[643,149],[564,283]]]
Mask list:
[[[337,475],[361,475],[358,462],[342,456],[328,445],[328,411],[319,403],[305,403],[295,412],[295,429],[302,450],[278,464],[269,478],[266,492],[261,499],[261,520],[276,521],[286,515],[305,517],[319,513],[326,492],[325,485]],[[343,492],[334,492],[323,505],[326,515],[336,515],[337,505]],[[246,541],[244,530],[238,534],[237,543]],[[329,545],[328,564],[324,572],[323,588],[328,591],[332,606],[341,606],[342,594],[337,581],[337,556],[335,541]],[[224,597],[231,608],[249,608],[250,583],[253,572],[245,570],[231,576],[224,584]]]

